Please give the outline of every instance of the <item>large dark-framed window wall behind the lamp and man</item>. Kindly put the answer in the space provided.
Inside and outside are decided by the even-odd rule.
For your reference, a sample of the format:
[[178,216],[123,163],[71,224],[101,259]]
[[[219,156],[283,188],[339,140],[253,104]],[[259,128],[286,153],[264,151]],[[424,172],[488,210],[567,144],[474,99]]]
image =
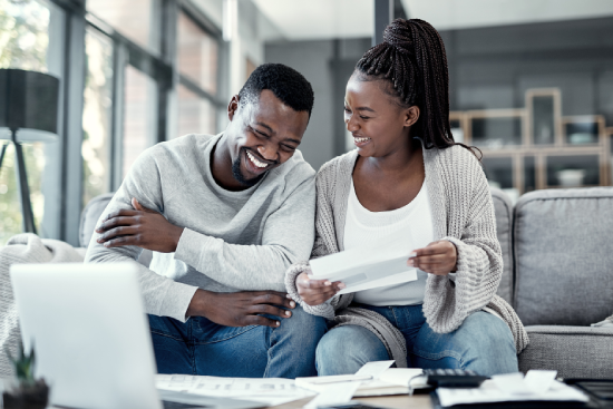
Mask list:
[[[198,10],[172,0],[0,0],[0,68],[60,78],[59,142],[22,144],[39,235],[78,245],[79,211],[117,189],[143,150],[216,133],[223,48]],[[21,232],[20,207],[11,144],[0,244]]]

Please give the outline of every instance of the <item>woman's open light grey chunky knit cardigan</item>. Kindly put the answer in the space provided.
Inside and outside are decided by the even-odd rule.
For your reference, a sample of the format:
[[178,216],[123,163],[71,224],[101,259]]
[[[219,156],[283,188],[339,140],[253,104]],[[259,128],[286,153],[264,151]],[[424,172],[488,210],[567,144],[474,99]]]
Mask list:
[[[315,243],[311,259],[344,249],[344,220],[353,167],[351,150],[324,164],[317,176]],[[448,240],[457,247],[457,272],[450,276],[429,274],[424,296],[424,314],[435,332],[456,330],[475,311],[487,310],[510,328],[517,353],[528,344],[528,335],[513,308],[496,290],[503,274],[496,218],[485,174],[475,156],[461,146],[424,149],[435,241]],[[398,367],[406,367],[405,338],[382,315],[349,306],[353,294],[335,295],[330,302],[308,305],[298,294],[295,279],[309,271],[309,263],[293,264],[286,272],[290,296],[305,311],[334,320],[337,325],[356,324],[371,330],[385,343]]]

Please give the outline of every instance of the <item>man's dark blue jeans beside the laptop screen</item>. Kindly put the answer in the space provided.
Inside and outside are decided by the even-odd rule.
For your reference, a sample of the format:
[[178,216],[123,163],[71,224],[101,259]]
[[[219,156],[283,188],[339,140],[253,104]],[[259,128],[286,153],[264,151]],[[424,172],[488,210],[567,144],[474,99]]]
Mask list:
[[315,349],[325,319],[300,305],[279,328],[223,327],[206,318],[186,323],[149,315],[157,371],[243,378],[295,378],[317,374]]

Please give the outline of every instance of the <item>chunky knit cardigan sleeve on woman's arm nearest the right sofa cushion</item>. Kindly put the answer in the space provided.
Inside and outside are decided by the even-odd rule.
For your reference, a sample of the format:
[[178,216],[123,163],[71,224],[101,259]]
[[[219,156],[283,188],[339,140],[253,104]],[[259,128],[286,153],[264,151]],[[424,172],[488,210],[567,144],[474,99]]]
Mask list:
[[[503,255],[496,236],[496,217],[487,179],[477,160],[469,158],[450,197],[447,230],[441,240],[457,251],[456,279],[446,275],[428,277],[424,314],[435,332],[456,330],[473,312],[486,306],[503,274]],[[464,191],[460,186],[469,186]],[[464,197],[463,197],[464,196]],[[451,207],[454,206],[454,207]]]

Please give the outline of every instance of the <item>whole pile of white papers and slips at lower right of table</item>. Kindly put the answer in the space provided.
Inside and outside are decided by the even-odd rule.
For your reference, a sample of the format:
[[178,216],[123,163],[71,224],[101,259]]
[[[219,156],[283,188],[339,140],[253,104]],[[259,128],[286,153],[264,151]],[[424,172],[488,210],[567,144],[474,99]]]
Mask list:
[[[536,373],[529,374],[531,372]],[[531,370],[525,378],[523,373],[494,376],[490,380],[483,382],[479,388],[439,388],[437,389],[437,395],[440,405],[444,407],[463,403],[493,403],[528,400],[577,402],[587,402],[590,400],[583,392],[552,379],[551,372],[555,371]],[[555,373],[553,377],[555,378]]]

